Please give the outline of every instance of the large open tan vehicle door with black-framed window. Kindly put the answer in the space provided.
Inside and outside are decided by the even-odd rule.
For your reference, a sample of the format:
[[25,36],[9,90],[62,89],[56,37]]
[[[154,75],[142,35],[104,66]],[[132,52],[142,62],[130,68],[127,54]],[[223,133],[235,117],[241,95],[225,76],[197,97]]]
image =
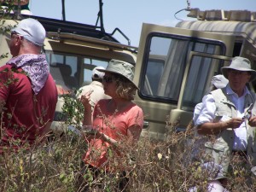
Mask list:
[[[140,87],[135,102],[145,115],[143,135],[165,139],[173,128],[169,123],[173,123],[174,109],[183,110],[182,117],[175,120],[183,119],[182,125],[188,125],[212,76],[228,65],[234,41],[222,34],[143,24],[134,79]],[[227,57],[223,60],[218,55]],[[187,80],[191,84],[186,85]],[[190,93],[193,102],[181,109],[183,97]]]

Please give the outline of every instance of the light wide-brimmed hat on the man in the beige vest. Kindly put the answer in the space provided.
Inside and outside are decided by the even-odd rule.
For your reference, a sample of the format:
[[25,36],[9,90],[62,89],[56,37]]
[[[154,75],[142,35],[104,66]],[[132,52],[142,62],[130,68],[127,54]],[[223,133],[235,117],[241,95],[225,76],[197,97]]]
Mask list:
[[226,79],[228,79],[229,69],[234,69],[241,72],[250,72],[251,73],[250,81],[253,81],[253,79],[256,78],[256,71],[252,69],[251,62],[247,58],[236,56],[233,58],[230,64],[230,67],[222,67],[221,72],[223,73]]

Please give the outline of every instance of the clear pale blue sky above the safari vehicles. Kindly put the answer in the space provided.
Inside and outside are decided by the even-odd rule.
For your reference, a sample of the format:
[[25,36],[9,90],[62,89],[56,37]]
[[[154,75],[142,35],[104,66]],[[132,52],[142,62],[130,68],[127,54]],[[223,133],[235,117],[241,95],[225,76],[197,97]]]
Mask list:
[[[138,46],[143,23],[162,26],[175,26],[180,20],[191,20],[186,17],[187,11],[178,12],[188,7],[201,10],[247,9],[256,11],[255,0],[102,0],[103,23],[105,31],[112,33],[118,27],[130,38],[132,46]],[[30,0],[32,15],[62,20],[61,0]],[[65,0],[66,20],[89,25],[96,25],[99,11],[98,0]],[[177,13],[175,17],[175,13]],[[120,43],[127,40],[116,33]]]

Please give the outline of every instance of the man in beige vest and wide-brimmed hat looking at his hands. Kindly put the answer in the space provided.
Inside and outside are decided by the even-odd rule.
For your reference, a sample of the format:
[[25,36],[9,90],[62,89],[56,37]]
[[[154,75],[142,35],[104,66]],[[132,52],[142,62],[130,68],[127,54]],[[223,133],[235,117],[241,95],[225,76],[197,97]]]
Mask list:
[[[247,89],[247,83],[256,78],[247,58],[233,58],[230,67],[221,68],[229,84],[223,89],[213,90],[202,105],[195,122],[201,135],[212,136],[214,142],[207,141],[204,168],[211,166],[209,191],[224,191],[226,173],[234,154],[249,157],[249,163],[256,166],[256,118],[251,114],[255,93]],[[255,115],[255,114],[254,114]],[[212,168],[212,165],[214,168]],[[221,172],[220,172],[221,170]],[[214,174],[213,174],[214,173]]]

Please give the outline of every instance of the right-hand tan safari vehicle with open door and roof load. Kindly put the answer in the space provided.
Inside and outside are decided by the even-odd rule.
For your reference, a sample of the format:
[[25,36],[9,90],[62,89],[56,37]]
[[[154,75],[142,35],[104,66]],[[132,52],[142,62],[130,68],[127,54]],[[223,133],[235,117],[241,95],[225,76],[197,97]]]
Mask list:
[[[137,55],[135,102],[143,108],[143,135],[165,140],[186,131],[195,105],[213,75],[232,57],[247,57],[256,68],[255,12],[190,9],[175,27],[143,24]],[[255,82],[249,85],[255,88]]]

